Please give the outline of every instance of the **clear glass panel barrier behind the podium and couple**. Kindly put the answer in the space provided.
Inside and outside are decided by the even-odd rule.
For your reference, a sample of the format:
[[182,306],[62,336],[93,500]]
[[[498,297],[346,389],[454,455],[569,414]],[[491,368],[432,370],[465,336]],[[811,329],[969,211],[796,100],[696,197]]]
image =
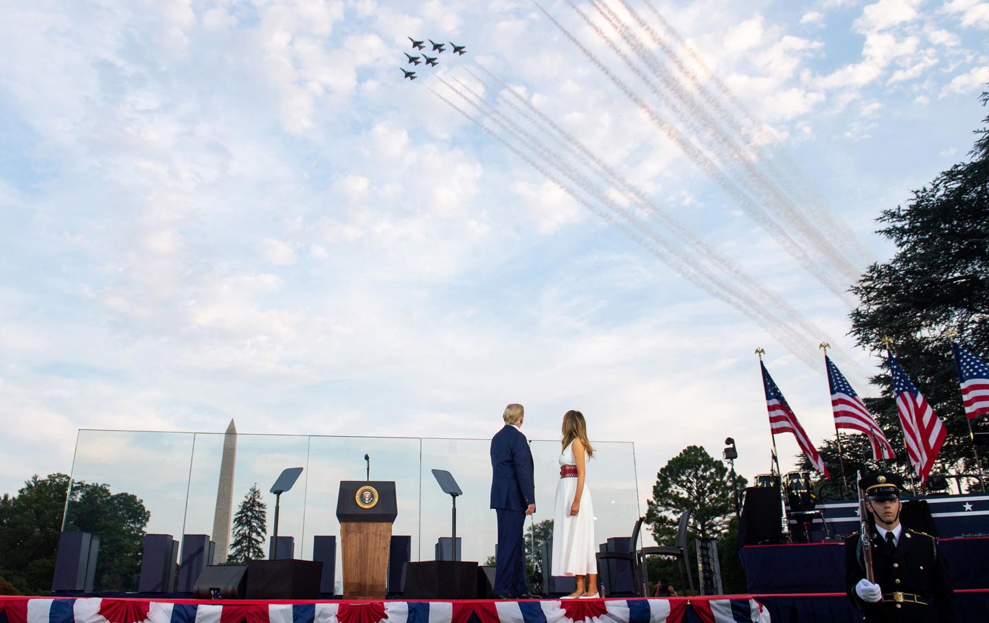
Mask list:
[[[65,530],[91,532],[101,540],[94,590],[137,589],[144,534],[214,535],[224,433],[80,430],[66,502]],[[412,561],[436,559],[437,543],[452,531],[453,500],[432,475],[446,470],[463,494],[456,499],[462,560],[484,565],[494,556],[495,513],[490,439],[336,437],[235,434],[230,518],[252,486],[267,505],[269,554],[275,495],[282,470],[304,468],[292,490],[281,495],[278,533],[295,540],[293,558],[312,560],[314,537],[337,536],[336,583],[341,586],[340,525],[336,500],[341,481],[363,481],[370,460],[373,481],[394,481],[399,515],[394,535],[408,535]],[[557,440],[533,440],[536,512],[526,530],[552,521],[560,478]],[[640,515],[635,447],[596,442],[587,465],[598,543],[628,536]],[[226,489],[226,488],[225,488]],[[222,496],[221,496],[222,497]],[[145,520],[146,513],[146,520]],[[232,541],[227,533],[228,542]],[[281,556],[281,555],[280,555]],[[179,560],[182,560],[179,552]],[[218,552],[216,562],[224,562]]]

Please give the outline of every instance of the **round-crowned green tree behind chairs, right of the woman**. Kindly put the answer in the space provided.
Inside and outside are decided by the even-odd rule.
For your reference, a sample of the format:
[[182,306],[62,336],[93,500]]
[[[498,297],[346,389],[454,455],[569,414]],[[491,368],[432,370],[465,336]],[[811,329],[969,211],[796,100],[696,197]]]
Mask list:
[[[736,485],[739,490],[745,489],[745,478],[736,476]],[[735,517],[734,489],[728,468],[700,446],[687,446],[667,462],[656,475],[653,497],[647,504],[646,524],[657,543],[663,545],[673,545],[676,525],[684,510],[690,511],[687,536],[691,540],[695,537],[723,537]],[[693,570],[696,564],[692,543],[690,545],[687,547],[687,565]],[[726,571],[733,572],[740,567],[736,550],[734,546],[726,549],[719,539],[718,554],[723,579]],[[685,594],[686,586],[676,585],[675,580],[679,576],[674,562],[655,557],[651,559],[648,562],[649,577],[653,580],[667,578],[680,594]]]

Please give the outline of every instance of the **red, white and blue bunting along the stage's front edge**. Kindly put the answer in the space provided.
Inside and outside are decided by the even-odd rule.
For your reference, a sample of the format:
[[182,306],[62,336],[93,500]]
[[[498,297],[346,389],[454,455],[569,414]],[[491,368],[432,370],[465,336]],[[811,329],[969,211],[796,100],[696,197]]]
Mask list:
[[769,623],[769,613],[752,595],[445,601],[0,595],[0,623]]

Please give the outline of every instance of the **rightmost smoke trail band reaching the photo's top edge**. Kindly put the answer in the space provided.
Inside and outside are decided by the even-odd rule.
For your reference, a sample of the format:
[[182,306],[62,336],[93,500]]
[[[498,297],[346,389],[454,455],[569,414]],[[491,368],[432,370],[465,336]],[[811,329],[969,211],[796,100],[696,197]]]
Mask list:
[[[871,253],[858,240],[858,237],[855,235],[851,227],[840,220],[834,219],[828,211],[823,208],[823,201],[814,190],[814,185],[803,173],[801,168],[792,160],[792,158],[787,156],[785,152],[782,152],[781,147],[775,150],[775,154],[770,153],[768,150],[764,150],[763,145],[767,139],[773,142],[776,141],[775,133],[761,120],[749,112],[749,110],[739,101],[728,86],[714,73],[714,71],[711,70],[710,67],[707,66],[704,60],[689,44],[687,44],[679,33],[676,32],[673,25],[671,25],[663,17],[656,7],[653,6],[649,0],[643,0],[644,4],[653,12],[653,15],[656,17],[656,20],[660,23],[663,30],[666,31],[668,37],[674,40],[674,43],[678,45],[687,56],[689,56],[690,60],[692,60],[693,63],[701,69],[701,71],[704,72],[706,78],[714,83],[716,93],[712,93],[704,81],[701,80],[693,70],[686,66],[686,63],[683,61],[683,58],[676,51],[674,46],[667,45],[663,38],[656,33],[639,15],[639,13],[628,4],[627,0],[618,1],[622,3],[636,22],[638,22],[640,26],[646,30],[653,42],[670,57],[680,75],[687,78],[697,89],[697,91],[703,94],[704,100],[714,107],[719,116],[723,118],[737,134],[741,134],[746,137],[746,142],[755,149],[756,157],[768,165],[773,177],[780,180],[785,190],[791,197],[797,199],[797,208],[800,209],[801,205],[813,207],[813,211],[802,210],[802,212],[808,218],[817,220],[820,223],[821,228],[826,230],[826,234],[832,242],[852,256],[854,264],[863,265],[870,262],[872,259]],[[727,100],[729,104],[734,105],[734,111],[730,111],[728,110],[728,107],[722,106],[721,103],[725,100]],[[749,131],[749,128],[755,129],[755,132]],[[857,276],[855,279],[857,279]]]

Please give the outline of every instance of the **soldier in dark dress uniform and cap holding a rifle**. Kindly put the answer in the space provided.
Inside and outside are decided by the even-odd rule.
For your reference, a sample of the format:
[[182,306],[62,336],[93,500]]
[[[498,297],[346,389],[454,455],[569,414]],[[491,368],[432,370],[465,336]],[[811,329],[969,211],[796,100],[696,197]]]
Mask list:
[[845,585],[849,599],[869,623],[954,623],[954,593],[938,541],[900,523],[903,479],[870,474],[860,487],[871,515],[872,568],[865,578],[858,532],[845,541]]

